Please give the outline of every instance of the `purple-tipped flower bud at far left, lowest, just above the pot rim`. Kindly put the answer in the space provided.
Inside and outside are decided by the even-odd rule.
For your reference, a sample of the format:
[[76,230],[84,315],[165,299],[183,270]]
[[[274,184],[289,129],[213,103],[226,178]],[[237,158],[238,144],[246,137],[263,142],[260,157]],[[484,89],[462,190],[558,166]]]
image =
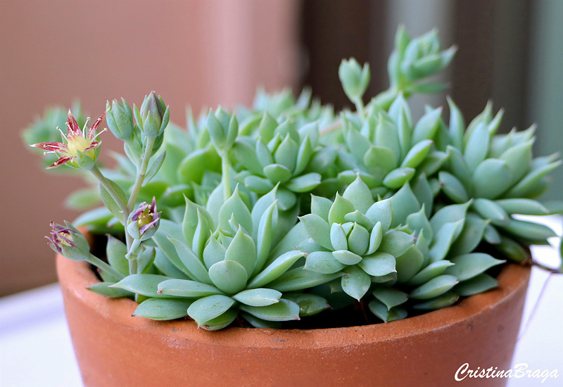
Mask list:
[[90,246],[84,236],[65,222],[65,226],[51,222],[51,236],[45,236],[49,246],[69,260],[87,260],[90,255]]

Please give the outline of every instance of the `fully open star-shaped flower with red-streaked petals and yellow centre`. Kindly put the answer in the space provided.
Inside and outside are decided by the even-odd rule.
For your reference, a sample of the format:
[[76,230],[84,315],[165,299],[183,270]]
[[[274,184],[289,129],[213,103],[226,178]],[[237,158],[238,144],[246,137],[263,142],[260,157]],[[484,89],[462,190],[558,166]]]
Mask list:
[[[49,168],[58,167],[59,165],[63,165],[65,163],[70,162],[73,163],[73,160],[77,158],[79,152],[84,153],[86,156],[91,158],[92,160],[96,160],[96,148],[101,144],[101,141],[96,141],[96,137],[98,137],[102,132],[96,134],[96,129],[98,129],[100,123],[103,121],[103,118],[106,116],[106,113],[103,113],[100,118],[94,122],[94,125],[90,127],[88,132],[86,132],[86,125],[88,124],[88,120],[86,124],[84,124],[84,129],[80,130],[78,123],[76,122],[75,118],[68,110],[68,120],[66,122],[66,126],[68,128],[68,134],[65,135],[61,128],[57,127],[61,135],[63,136],[63,141],[65,142],[42,142],[39,144],[32,144],[34,148],[43,149],[46,151],[45,153],[56,153],[59,156],[58,160],[55,161]],[[76,166],[76,165],[72,165]]]

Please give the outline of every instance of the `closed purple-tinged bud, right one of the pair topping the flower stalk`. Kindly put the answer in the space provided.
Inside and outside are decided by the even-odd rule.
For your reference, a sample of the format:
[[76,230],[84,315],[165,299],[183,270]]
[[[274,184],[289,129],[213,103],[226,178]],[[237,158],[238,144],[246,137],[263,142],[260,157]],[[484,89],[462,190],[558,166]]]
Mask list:
[[156,96],[154,91],[145,96],[141,109],[133,106],[137,125],[147,137],[159,137],[170,120],[170,109],[165,106],[162,97]]

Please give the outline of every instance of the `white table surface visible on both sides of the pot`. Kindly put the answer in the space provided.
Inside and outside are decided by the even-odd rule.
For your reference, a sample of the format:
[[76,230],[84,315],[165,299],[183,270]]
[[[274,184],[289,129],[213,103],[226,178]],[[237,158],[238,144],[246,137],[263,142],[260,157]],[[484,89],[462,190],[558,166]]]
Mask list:
[[[561,217],[544,219],[559,235],[562,233]],[[532,253],[536,259],[556,265],[558,254],[553,248],[533,246]],[[543,383],[541,379],[510,379],[509,387],[563,386],[563,275],[550,276],[533,319],[529,320],[547,278],[542,270],[532,270],[521,334],[526,323],[528,326],[519,338],[512,364],[557,369],[559,378]],[[479,379],[474,380],[478,386]],[[58,284],[0,298],[0,386],[82,386]]]

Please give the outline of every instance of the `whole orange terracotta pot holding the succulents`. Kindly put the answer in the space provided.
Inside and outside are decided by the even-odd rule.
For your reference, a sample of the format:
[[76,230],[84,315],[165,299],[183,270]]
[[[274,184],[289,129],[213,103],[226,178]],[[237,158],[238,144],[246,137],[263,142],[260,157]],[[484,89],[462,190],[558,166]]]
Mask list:
[[57,258],[68,326],[85,386],[504,386],[456,382],[457,369],[509,369],[529,268],[507,265],[499,288],[442,310],[341,329],[230,328],[131,317],[132,300],[86,289],[84,262]]

